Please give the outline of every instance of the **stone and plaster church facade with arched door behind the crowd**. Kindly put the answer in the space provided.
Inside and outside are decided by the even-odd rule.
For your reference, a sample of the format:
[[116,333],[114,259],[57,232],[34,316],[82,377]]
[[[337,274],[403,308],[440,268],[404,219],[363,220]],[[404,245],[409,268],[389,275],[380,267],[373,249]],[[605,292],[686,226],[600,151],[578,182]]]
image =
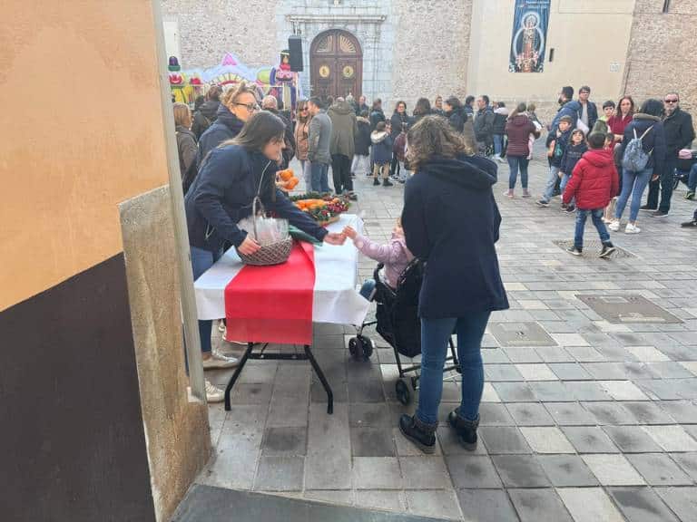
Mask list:
[[[688,43],[697,0],[162,0],[168,53],[184,69],[226,53],[276,66],[288,37],[302,41],[299,83],[311,94],[381,98],[388,108],[420,96],[486,93],[555,110],[562,85],[592,99],[623,92],[663,96],[675,84],[667,52],[692,74]],[[663,30],[662,30],[663,27]],[[649,41],[651,36],[660,46]],[[682,51],[681,51],[682,49]],[[680,54],[680,56],[678,56]],[[643,74],[639,61],[652,63]]]

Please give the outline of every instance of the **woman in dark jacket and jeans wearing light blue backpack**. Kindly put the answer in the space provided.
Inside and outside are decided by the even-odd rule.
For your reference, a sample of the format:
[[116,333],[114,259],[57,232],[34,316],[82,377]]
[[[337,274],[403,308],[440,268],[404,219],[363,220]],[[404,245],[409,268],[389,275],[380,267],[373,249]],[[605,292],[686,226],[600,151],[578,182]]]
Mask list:
[[652,178],[658,179],[663,172],[665,164],[665,132],[663,131],[663,122],[661,121],[663,110],[663,102],[660,100],[647,100],[643,102],[641,110],[633,115],[632,122],[624,129],[622,157],[624,157],[627,145],[634,139],[634,134],[636,134],[637,138],[643,136],[642,149],[649,155],[649,161],[646,163],[646,167],[639,172],[632,172],[628,169],[623,169],[622,171],[622,193],[617,199],[617,207],[614,209],[614,221],[608,227],[614,232],[620,229],[622,214],[630,194],[632,195],[632,206],[629,209],[629,223],[624,228],[624,232],[626,234],[638,234],[642,231],[641,228],[636,226],[636,218],[639,217],[643,191]]

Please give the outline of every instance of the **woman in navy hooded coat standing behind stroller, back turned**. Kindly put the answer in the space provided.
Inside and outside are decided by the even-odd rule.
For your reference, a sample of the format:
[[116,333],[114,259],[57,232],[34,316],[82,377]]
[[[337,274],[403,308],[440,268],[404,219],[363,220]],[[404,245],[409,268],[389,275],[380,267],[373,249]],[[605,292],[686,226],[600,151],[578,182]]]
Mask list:
[[472,156],[439,116],[419,121],[408,142],[415,174],[407,180],[402,227],[407,247],[426,267],[418,304],[418,408],[413,417],[402,415],[399,429],[425,452],[435,450],[447,342],[456,332],[462,401],[448,421],[460,442],[474,449],[484,388],[481,341],[491,312],[508,308],[495,247],[501,224],[496,163]]

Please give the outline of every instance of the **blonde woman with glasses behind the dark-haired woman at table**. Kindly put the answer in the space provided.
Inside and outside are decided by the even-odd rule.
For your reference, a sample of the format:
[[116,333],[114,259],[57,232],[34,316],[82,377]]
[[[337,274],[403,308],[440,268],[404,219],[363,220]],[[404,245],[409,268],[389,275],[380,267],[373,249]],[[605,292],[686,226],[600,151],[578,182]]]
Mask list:
[[199,169],[211,150],[223,141],[232,140],[240,134],[244,122],[249,120],[255,111],[259,111],[259,104],[254,85],[240,82],[223,94],[221,106],[218,108],[218,119],[201,134],[199,140],[199,155],[196,158]]

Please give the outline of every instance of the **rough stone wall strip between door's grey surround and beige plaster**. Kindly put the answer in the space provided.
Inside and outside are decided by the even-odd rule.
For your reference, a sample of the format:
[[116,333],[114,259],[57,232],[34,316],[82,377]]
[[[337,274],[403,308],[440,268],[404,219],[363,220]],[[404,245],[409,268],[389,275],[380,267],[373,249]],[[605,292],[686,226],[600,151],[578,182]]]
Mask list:
[[464,99],[472,0],[394,0],[392,11],[393,100],[405,100],[410,111],[420,96]]

